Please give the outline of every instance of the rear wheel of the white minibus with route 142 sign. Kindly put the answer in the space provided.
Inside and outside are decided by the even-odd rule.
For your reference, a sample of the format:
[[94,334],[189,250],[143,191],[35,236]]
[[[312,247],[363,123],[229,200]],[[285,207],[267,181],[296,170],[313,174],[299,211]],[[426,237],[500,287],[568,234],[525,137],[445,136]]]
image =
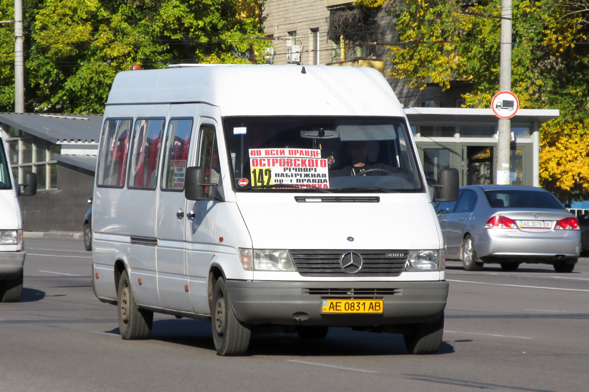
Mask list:
[[127,271],[118,282],[118,329],[124,340],[147,339],[151,334],[153,311],[139,309],[135,303]]

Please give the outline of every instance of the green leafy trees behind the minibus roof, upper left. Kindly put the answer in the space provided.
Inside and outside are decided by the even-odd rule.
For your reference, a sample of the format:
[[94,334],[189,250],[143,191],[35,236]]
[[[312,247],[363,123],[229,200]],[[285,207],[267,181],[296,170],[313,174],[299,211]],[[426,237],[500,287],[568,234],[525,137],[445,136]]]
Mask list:
[[[28,111],[101,113],[112,79],[133,64],[247,63],[271,46],[256,0],[41,0],[28,10]],[[14,53],[9,38],[0,36],[2,49],[13,45],[2,65]],[[14,71],[0,72],[9,110]]]

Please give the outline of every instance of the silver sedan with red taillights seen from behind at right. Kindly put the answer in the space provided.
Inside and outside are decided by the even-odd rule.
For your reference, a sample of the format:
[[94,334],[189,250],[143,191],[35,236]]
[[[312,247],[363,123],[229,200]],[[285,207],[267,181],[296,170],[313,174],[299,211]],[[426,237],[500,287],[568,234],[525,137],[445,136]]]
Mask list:
[[573,272],[581,252],[579,222],[547,190],[528,186],[471,185],[458,200],[435,206],[447,260],[468,271],[498,263],[515,271],[521,263],[552,264]]

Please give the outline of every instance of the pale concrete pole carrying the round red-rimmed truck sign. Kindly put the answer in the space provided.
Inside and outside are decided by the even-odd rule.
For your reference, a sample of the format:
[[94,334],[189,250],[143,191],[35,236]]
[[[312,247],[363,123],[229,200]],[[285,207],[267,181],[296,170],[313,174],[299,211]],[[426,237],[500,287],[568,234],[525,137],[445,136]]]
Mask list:
[[[499,91],[511,91],[511,0],[501,1],[501,43],[499,54]],[[511,120],[499,119],[497,140],[498,185],[509,185],[509,145],[511,143]]]

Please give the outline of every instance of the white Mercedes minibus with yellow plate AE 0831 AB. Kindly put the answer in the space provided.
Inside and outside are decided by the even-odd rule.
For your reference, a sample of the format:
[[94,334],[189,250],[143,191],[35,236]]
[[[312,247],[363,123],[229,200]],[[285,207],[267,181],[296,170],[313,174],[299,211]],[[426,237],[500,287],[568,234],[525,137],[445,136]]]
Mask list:
[[[256,331],[402,333],[436,353],[442,235],[411,128],[367,68],[184,66],[119,73],[93,199],[95,295],[123,339],[153,312],[211,320],[220,355]],[[438,200],[455,200],[458,172]]]

